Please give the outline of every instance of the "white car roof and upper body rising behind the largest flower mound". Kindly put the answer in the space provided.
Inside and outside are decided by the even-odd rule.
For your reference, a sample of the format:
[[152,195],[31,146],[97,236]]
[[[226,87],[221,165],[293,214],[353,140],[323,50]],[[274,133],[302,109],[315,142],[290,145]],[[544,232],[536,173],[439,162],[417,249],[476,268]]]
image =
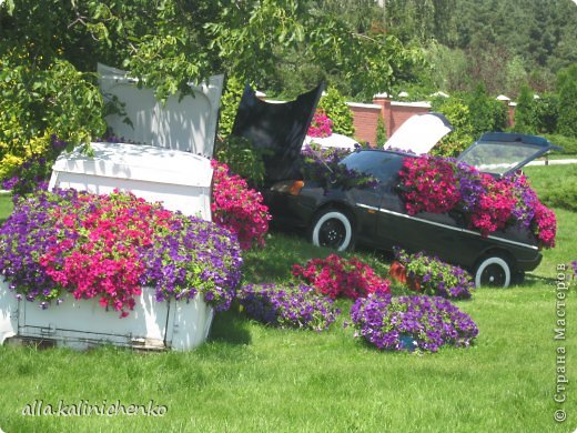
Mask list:
[[131,191],[165,209],[211,220],[212,168],[207,158],[153,145],[92,143],[93,155],[74,150],[58,158],[49,188],[97,194]]

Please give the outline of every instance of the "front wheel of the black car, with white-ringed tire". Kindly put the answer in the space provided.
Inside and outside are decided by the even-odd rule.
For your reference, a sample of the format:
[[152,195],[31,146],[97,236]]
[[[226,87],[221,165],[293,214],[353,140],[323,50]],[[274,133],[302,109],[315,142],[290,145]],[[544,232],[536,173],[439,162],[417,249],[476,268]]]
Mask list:
[[337,251],[352,248],[354,235],[351,218],[334,209],[320,212],[312,224],[311,241],[316,246],[327,246]]

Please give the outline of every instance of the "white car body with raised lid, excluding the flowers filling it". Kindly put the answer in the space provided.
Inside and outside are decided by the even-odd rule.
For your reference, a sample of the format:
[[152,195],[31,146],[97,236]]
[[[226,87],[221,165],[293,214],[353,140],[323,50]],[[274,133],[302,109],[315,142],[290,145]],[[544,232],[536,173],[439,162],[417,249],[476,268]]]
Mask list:
[[[121,117],[107,119],[114,133],[146,144],[92,143],[89,157],[80,149],[54,163],[49,188],[73,188],[98,194],[115,189],[171,211],[211,220],[212,158],[223,77],[191,85],[194,97],[158,102],[151,89],[138,89],[120,70],[100,67],[104,97],[117,97],[132,125]],[[1,276],[0,276],[1,280]],[[84,349],[111,343],[143,349],[190,350],[207,336],[213,310],[198,294],[194,300],[156,302],[143,288],[128,318],[105,311],[98,299],[64,296],[60,305],[42,310],[39,302],[17,301],[0,282],[0,344],[7,338],[52,340]]]

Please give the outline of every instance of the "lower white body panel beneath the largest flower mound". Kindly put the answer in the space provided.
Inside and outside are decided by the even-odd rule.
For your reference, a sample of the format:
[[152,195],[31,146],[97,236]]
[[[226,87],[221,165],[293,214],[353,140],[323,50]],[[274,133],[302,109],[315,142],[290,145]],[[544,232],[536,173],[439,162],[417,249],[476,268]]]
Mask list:
[[57,345],[84,350],[98,344],[134,349],[186,351],[209,334],[213,309],[200,296],[156,302],[155,291],[143,288],[130,315],[105,311],[98,299],[63,296],[60,305],[42,310],[38,302],[17,301],[6,282],[0,283],[0,343],[18,338],[52,340]]

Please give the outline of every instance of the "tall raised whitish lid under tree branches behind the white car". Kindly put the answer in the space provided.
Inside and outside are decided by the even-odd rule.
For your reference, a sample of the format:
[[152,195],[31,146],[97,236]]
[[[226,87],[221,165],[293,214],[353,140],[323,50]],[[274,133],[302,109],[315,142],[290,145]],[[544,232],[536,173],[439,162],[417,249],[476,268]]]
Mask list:
[[224,75],[211,77],[202,85],[189,84],[193,95],[181,99],[174,94],[163,104],[155,99],[154,89],[139,89],[138,80],[125,71],[99,63],[98,72],[104,100],[118,98],[123,104],[123,114],[105,118],[114,135],[212,158]]

